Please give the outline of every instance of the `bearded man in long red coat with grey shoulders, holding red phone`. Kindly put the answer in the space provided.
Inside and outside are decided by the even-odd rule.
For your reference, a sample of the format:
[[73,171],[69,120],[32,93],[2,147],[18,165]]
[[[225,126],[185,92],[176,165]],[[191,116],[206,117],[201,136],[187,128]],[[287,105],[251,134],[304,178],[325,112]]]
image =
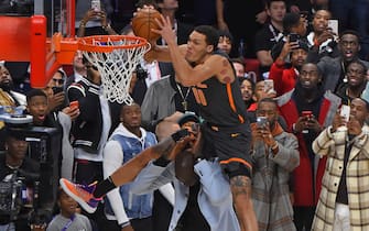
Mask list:
[[[289,131],[299,140],[300,165],[292,182],[294,222],[297,230],[311,230],[326,165],[326,158],[315,156],[312,143],[323,128],[332,124],[340,98],[324,91],[316,64],[306,63],[301,67],[295,88],[282,95],[278,105]],[[303,111],[311,112],[302,114]]]

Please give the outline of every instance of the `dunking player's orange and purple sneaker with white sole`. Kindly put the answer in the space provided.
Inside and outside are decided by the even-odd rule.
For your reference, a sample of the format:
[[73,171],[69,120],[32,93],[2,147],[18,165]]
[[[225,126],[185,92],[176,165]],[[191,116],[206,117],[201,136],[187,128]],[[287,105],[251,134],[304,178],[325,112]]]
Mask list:
[[97,183],[93,183],[90,185],[78,185],[65,178],[61,178],[59,183],[64,191],[69,195],[69,197],[75,199],[80,207],[89,213],[94,213],[97,206],[102,200],[102,198],[95,198],[93,195]]

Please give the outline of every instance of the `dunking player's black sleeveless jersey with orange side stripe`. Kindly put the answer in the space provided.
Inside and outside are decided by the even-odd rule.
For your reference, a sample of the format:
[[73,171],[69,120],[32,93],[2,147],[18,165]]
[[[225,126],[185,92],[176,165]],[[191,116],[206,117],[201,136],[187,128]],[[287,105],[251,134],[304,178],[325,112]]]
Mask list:
[[[223,53],[214,55],[227,57]],[[230,63],[229,58],[228,62]],[[232,67],[231,63],[230,65]],[[219,127],[235,127],[245,122],[246,107],[237,79],[230,84],[223,84],[213,76],[194,87],[193,91],[206,122]]]

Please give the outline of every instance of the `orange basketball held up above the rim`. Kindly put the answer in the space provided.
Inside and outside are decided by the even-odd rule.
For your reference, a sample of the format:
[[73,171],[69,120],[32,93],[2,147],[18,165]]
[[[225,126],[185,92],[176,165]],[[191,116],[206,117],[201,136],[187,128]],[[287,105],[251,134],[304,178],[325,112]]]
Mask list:
[[148,41],[156,41],[160,34],[151,31],[159,29],[155,19],[160,20],[161,13],[154,9],[142,9],[132,19],[132,30],[135,36],[146,38]]

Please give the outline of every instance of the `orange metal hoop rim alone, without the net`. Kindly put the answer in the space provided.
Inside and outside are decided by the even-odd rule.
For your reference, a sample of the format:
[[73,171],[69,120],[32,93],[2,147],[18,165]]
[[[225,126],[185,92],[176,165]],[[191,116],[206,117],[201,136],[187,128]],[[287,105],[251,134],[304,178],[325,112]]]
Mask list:
[[[120,42],[120,41],[131,41],[135,44],[123,44],[123,45],[99,45],[94,44],[95,42],[107,43],[109,42]],[[97,53],[110,53],[113,50],[130,50],[138,48],[148,45],[148,41],[143,37],[129,36],[129,35],[94,35],[80,37],[78,40],[78,50],[86,52],[97,52]]]

